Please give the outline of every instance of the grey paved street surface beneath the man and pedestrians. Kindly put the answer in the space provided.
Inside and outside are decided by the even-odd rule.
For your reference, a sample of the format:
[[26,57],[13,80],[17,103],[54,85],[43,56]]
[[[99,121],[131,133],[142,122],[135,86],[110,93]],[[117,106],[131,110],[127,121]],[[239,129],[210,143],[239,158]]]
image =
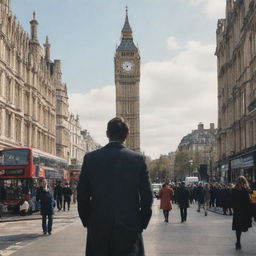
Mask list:
[[[156,200],[152,220],[144,232],[146,256],[256,255],[255,225],[243,234],[243,249],[237,252],[230,216],[209,212],[205,217],[192,206],[187,223],[180,223],[178,208],[174,206],[170,223],[165,224],[158,206]],[[51,236],[41,235],[39,219],[0,223],[0,255],[84,255],[86,233],[77,218],[76,206],[70,212],[57,212],[55,218]]]

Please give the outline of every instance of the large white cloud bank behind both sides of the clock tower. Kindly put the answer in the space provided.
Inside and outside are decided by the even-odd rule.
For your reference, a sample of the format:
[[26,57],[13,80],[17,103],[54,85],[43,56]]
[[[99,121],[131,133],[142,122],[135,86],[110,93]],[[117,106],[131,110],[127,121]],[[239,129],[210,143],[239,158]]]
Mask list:
[[[141,148],[158,157],[176,150],[181,138],[199,122],[216,122],[215,45],[189,41],[179,53],[141,67]],[[81,106],[81,102],[83,102]],[[107,121],[115,115],[115,87],[71,94],[72,112],[102,145]]]

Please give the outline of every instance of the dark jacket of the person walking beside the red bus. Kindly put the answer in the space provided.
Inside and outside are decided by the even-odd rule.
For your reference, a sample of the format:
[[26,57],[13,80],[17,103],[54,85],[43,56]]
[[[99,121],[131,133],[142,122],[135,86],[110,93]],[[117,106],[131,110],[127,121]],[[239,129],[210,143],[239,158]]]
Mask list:
[[53,196],[51,192],[43,187],[37,189],[36,201],[40,202],[41,215],[52,215],[53,214]]

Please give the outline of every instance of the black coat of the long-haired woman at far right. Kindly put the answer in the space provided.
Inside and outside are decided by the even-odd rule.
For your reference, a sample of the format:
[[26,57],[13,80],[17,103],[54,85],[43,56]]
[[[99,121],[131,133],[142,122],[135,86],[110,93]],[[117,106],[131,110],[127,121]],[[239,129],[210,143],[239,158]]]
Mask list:
[[232,190],[233,230],[248,231],[252,226],[252,208],[249,192],[246,189]]

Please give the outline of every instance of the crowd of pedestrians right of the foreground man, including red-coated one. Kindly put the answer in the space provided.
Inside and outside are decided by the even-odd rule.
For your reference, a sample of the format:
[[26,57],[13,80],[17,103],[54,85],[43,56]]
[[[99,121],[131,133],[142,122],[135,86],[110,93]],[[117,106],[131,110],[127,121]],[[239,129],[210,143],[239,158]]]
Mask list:
[[197,203],[197,212],[204,210],[208,215],[209,208],[222,209],[224,215],[233,215],[232,230],[236,232],[237,250],[241,249],[241,234],[252,227],[252,219],[256,221],[256,190],[249,185],[244,176],[237,179],[236,184],[198,183],[185,186],[181,183],[164,183],[159,191],[160,209],[163,210],[164,221],[169,221],[172,204],[180,208],[181,222],[187,220],[187,208]]

